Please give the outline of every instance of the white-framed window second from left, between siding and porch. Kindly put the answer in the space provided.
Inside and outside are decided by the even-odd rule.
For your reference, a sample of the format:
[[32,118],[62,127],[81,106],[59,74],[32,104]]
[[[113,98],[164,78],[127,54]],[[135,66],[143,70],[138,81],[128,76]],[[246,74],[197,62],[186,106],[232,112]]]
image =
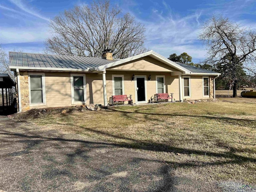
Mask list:
[[85,103],[86,90],[85,90],[85,76],[72,74],[72,104]]

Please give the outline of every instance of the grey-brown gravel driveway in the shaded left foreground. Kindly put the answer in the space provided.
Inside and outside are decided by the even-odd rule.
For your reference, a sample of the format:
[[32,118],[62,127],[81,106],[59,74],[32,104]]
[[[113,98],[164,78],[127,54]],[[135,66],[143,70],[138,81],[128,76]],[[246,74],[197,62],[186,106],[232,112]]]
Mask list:
[[142,151],[0,116],[0,192],[222,191]]

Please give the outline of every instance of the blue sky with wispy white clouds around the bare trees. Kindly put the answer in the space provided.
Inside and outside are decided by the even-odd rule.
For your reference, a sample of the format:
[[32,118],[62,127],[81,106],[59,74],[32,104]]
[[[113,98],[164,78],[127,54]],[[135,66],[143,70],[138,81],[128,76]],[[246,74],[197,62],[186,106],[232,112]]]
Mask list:
[[[54,16],[89,0],[0,0],[0,44],[8,51],[42,53]],[[168,57],[187,52],[198,62],[205,47],[197,40],[200,26],[223,14],[241,26],[256,28],[256,0],[111,0],[146,27],[146,48]]]

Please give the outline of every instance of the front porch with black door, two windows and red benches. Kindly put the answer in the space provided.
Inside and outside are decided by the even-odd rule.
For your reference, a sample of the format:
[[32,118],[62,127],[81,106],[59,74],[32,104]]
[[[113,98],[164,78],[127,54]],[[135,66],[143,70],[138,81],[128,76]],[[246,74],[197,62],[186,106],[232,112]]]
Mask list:
[[[116,95],[131,96],[134,104],[157,103],[158,93],[172,94],[174,102],[180,100],[179,76],[172,76],[170,72],[106,70],[102,73],[102,81],[104,106],[111,106],[112,96]],[[159,100],[164,101],[167,100]],[[118,102],[113,105],[116,104]]]

